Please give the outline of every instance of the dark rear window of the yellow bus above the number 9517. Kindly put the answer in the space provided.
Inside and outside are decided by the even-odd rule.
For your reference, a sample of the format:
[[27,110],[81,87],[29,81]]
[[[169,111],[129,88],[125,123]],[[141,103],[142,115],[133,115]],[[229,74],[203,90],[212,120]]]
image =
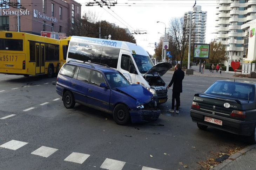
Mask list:
[[23,40],[1,38],[0,50],[23,51]]

